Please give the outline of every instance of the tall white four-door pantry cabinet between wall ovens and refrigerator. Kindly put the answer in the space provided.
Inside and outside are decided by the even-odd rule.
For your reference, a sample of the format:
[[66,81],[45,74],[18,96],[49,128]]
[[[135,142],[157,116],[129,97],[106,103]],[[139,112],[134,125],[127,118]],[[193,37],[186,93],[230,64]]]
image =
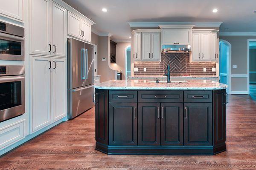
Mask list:
[[67,10],[29,0],[31,133],[67,115]]

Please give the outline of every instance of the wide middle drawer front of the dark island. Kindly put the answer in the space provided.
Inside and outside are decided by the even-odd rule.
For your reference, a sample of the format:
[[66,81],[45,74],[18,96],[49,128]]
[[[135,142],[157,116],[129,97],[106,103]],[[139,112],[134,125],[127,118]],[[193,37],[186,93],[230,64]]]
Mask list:
[[139,102],[183,102],[183,91],[138,91]]

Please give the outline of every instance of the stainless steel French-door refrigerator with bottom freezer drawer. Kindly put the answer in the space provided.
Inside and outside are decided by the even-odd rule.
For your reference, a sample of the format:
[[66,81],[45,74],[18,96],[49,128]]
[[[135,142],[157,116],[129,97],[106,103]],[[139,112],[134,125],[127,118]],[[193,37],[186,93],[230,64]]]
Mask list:
[[93,107],[93,45],[68,38],[68,118]]

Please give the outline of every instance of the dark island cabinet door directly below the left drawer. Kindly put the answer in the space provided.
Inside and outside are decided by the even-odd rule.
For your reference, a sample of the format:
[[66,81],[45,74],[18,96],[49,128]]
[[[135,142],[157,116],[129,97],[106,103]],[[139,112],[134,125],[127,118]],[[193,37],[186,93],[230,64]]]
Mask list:
[[137,103],[109,103],[109,144],[137,145]]

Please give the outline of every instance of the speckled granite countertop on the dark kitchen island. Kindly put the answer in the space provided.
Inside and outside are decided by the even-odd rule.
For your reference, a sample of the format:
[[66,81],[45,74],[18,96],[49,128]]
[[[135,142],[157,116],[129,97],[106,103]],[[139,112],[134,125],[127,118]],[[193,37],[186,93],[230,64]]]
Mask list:
[[95,84],[96,89],[173,89],[173,90],[215,90],[227,89],[226,84],[221,84],[210,80],[184,80],[171,81],[171,83],[155,83],[150,80],[111,80]]

